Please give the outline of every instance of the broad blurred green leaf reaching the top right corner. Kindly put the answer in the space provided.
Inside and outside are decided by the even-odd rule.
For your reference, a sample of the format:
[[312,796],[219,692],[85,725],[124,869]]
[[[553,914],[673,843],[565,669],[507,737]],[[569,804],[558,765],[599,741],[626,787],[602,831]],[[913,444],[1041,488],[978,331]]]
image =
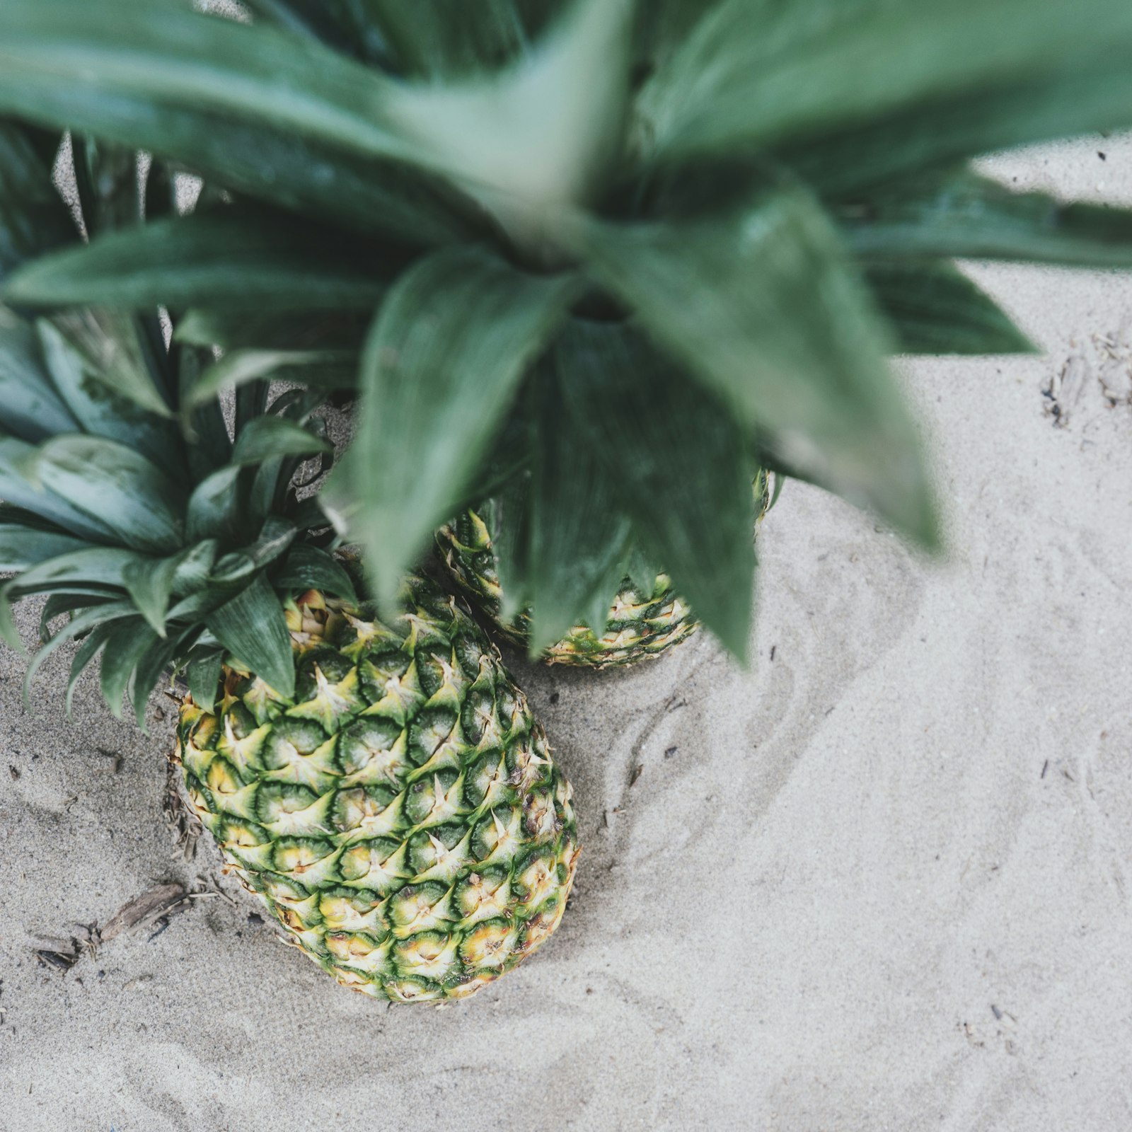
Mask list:
[[798,145],[972,94],[985,102],[1130,45],[1124,0],[726,0],[658,74],[648,101],[658,148],[686,158]]

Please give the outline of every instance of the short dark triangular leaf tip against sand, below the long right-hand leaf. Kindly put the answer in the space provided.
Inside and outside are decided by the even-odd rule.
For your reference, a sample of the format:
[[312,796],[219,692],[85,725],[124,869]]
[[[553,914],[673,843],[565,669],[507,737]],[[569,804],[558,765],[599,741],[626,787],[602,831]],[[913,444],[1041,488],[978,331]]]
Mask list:
[[1001,307],[947,260],[869,264],[865,280],[901,353],[1040,353]]

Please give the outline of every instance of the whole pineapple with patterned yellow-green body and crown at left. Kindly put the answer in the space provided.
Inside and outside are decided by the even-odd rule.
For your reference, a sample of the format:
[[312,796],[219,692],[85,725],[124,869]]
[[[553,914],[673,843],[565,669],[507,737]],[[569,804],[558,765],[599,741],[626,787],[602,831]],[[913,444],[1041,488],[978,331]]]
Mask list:
[[[120,160],[87,156],[96,173]],[[0,174],[20,173],[0,175],[0,229],[52,220],[22,225],[24,243],[78,238],[49,157],[0,122]],[[80,187],[88,226],[137,208],[129,177]],[[26,250],[0,240],[0,275]],[[26,688],[78,642],[68,710],[96,662],[111,709],[126,695],[139,722],[182,672],[177,758],[228,867],[351,989],[466,997],[561,918],[569,786],[455,598],[410,578],[380,617],[358,600],[299,498],[303,464],[333,456],[321,395],[260,378],[225,419],[231,361],[166,350],[155,323],[0,307],[0,633],[19,648],[10,604],[45,597]]]

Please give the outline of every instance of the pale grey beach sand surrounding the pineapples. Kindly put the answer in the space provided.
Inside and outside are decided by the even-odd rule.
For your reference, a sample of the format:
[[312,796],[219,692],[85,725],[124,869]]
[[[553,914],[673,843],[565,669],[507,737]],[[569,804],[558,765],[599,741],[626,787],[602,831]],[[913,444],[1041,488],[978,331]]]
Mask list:
[[[1127,140],[994,168],[1132,199]],[[1132,281],[972,272],[1049,354],[902,365],[944,563],[791,483],[751,672],[707,637],[516,662],[585,852],[468,1003],[335,987],[211,846],[171,856],[172,704],[147,738],[84,685],[68,723],[59,657],[32,717],[0,654],[0,1129],[1132,1127]],[[170,881],[223,895],[37,961]]]

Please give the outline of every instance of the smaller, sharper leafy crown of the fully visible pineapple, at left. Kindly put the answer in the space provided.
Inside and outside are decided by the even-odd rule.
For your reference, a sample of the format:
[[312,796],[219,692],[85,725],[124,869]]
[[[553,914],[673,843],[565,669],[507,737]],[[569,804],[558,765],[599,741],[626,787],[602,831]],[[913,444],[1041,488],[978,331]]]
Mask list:
[[[0,123],[0,278],[44,242],[78,240],[51,182],[58,138]],[[91,232],[136,223],[136,157],[77,154],[78,218]],[[281,598],[309,586],[352,597],[311,538],[321,512],[300,503],[297,472],[332,447],[312,415],[320,395],[241,385],[231,431],[224,363],[166,346],[156,311],[70,308],[51,317],[0,307],[0,632],[20,642],[10,606],[45,595],[28,684],[80,640],[67,691],[101,655],[102,692],[139,722],[169,666],[211,703],[231,654],[277,692],[293,691]],[[66,618],[60,623],[60,618]],[[53,627],[55,626],[55,627]]]

